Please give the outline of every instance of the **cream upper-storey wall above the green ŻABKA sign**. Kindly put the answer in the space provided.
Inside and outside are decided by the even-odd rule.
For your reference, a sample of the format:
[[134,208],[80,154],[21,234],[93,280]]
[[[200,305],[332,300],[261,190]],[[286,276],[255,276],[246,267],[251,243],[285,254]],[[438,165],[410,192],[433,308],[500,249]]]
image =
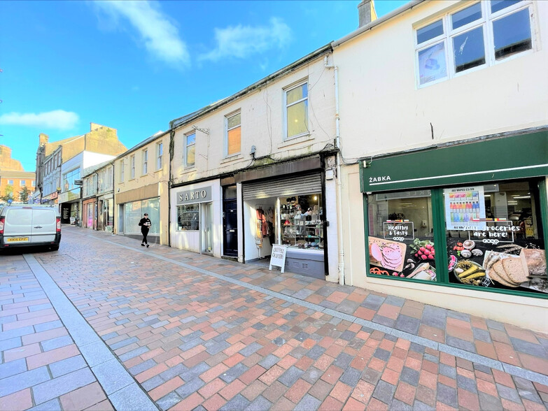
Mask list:
[[533,3],[533,52],[417,88],[414,24],[457,3],[425,1],[334,49],[344,157],[548,123],[548,1]]

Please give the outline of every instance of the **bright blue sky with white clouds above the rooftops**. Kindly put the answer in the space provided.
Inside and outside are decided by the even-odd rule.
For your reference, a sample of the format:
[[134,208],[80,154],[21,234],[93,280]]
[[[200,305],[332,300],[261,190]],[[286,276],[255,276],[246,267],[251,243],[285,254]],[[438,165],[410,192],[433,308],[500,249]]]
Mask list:
[[0,1],[0,145],[25,171],[40,133],[133,147],[356,30],[359,2]]

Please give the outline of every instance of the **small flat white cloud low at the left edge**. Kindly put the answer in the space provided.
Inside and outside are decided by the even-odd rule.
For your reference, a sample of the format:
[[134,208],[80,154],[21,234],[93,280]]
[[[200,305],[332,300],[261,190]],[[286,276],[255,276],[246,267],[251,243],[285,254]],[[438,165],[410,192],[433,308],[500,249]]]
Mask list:
[[53,110],[46,113],[6,113],[0,115],[0,124],[69,130],[78,123],[78,115],[71,111]]

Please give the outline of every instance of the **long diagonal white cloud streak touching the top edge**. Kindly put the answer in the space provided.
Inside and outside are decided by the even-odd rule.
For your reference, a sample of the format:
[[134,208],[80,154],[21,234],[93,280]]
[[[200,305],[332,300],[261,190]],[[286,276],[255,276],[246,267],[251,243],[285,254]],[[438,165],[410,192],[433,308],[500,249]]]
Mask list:
[[115,20],[124,17],[139,31],[150,54],[169,64],[188,65],[190,55],[179,38],[178,29],[162,13],[157,3],[150,1],[93,1]]

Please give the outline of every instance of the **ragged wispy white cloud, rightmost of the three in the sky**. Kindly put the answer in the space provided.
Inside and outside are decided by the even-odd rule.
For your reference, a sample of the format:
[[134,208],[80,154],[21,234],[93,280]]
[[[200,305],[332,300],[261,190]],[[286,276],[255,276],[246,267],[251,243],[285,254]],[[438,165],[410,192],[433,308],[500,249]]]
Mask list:
[[238,24],[226,29],[215,29],[216,48],[201,55],[199,59],[213,62],[225,57],[245,59],[272,48],[281,49],[289,43],[290,38],[289,26],[276,17],[272,17],[267,26],[251,27]]

